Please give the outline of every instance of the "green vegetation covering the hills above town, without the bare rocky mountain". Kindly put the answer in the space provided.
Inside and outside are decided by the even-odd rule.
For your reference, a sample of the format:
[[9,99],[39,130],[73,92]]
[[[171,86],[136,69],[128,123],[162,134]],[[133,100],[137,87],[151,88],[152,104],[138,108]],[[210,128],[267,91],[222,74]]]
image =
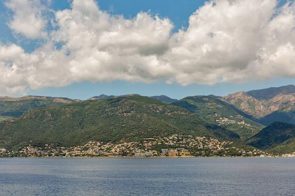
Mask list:
[[[0,104],[2,113],[10,115],[0,116],[0,148],[9,150],[51,143],[76,147],[89,141],[138,142],[179,134],[234,141],[243,149],[250,145],[275,154],[295,151],[295,125],[277,122],[264,128],[214,96],[187,97],[172,104],[138,95],[86,101],[34,97]],[[24,114],[11,118],[18,112]]]

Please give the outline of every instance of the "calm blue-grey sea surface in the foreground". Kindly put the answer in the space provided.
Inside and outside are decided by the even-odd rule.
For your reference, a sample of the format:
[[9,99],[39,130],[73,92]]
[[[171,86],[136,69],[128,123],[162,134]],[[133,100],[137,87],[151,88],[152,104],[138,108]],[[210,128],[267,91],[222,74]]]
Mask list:
[[0,159],[0,196],[292,196],[295,158]]

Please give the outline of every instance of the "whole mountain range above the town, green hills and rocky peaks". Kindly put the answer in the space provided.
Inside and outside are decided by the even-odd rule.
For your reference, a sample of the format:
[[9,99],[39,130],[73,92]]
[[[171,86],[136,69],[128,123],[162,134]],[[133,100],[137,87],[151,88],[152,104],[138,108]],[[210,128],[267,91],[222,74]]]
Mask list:
[[282,154],[295,152],[294,124],[294,85],[180,100],[138,94],[0,97],[0,147],[8,149],[189,134]]

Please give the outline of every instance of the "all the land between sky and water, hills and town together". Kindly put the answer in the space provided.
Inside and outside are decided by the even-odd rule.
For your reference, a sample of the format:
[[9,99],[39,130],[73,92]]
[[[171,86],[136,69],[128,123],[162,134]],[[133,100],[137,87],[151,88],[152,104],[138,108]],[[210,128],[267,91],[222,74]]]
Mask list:
[[0,157],[295,156],[295,86],[180,100],[0,97]]

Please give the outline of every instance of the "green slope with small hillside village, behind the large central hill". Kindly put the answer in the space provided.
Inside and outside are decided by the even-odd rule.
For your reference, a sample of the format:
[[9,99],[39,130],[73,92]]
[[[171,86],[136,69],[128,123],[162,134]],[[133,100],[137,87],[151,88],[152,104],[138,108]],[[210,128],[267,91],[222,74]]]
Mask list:
[[258,133],[264,126],[236,107],[212,96],[193,96],[180,99],[172,105],[183,107],[208,123],[222,126],[237,133],[245,140]]

